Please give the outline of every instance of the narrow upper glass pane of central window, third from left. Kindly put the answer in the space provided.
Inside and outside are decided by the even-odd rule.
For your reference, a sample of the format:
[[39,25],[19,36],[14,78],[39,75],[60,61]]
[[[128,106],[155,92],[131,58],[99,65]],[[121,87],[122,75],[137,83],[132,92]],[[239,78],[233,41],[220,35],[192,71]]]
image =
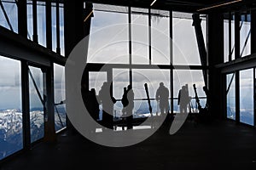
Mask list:
[[[163,13],[164,11],[161,11]],[[168,11],[165,11],[169,14]],[[151,14],[151,59],[152,64],[170,64],[169,17]]]

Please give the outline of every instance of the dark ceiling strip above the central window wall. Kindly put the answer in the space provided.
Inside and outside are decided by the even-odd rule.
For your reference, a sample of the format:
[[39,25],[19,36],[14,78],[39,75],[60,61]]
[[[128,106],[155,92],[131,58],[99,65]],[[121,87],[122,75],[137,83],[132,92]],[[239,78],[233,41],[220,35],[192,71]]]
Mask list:
[[[114,4],[141,8],[149,8],[153,1],[154,0],[90,0],[92,3]],[[241,0],[240,2],[233,3],[235,1],[239,0],[157,0],[151,8],[196,12],[201,8],[209,8],[220,5],[215,8],[201,10],[201,13],[208,13],[212,10],[231,11],[241,10],[242,8],[253,8],[255,5],[254,3],[256,3],[255,0]]]

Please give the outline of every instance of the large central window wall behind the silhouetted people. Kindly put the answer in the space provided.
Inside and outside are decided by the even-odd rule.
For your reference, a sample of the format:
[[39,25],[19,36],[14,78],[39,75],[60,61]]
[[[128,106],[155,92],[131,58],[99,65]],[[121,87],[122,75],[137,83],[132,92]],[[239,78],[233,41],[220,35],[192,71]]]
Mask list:
[[[118,12],[113,12],[113,9]],[[191,111],[198,112],[193,84],[196,85],[201,106],[205,106],[205,82],[200,67],[195,27],[192,26],[192,14],[174,12],[173,18],[170,18],[170,11],[111,5],[104,5],[104,8],[96,5],[93,14],[87,61],[91,65],[111,65],[107,66],[110,72],[89,71],[89,87],[96,88],[98,94],[96,79],[107,80],[108,75],[108,81],[113,80],[113,97],[118,99],[113,106],[118,116],[122,114],[120,99],[124,88],[127,88],[130,82],[135,94],[133,116],[149,113],[145,83],[148,84],[153,114],[159,109],[155,93],[160,82],[164,82],[169,89],[170,110],[173,104],[174,111],[178,111],[177,94],[183,85],[188,85],[189,95],[192,97]],[[206,17],[201,16],[201,19],[206,41]],[[197,65],[198,70],[190,70],[189,65]],[[110,75],[112,77],[109,77]],[[102,85],[102,82],[100,84]]]

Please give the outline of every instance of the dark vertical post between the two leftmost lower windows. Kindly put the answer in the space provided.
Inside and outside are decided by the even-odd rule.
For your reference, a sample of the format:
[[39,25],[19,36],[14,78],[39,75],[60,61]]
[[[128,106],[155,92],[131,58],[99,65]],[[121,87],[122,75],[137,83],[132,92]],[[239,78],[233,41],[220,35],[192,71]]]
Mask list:
[[31,147],[30,137],[30,113],[29,113],[29,77],[26,61],[21,61],[21,89],[22,89],[22,124],[23,147],[25,150]]

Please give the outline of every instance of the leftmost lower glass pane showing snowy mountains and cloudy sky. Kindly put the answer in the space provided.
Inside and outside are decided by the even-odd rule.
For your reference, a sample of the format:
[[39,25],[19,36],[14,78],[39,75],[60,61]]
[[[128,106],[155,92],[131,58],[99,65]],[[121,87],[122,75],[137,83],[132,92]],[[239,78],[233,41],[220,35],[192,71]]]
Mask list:
[[23,148],[20,61],[0,56],[0,160]]

